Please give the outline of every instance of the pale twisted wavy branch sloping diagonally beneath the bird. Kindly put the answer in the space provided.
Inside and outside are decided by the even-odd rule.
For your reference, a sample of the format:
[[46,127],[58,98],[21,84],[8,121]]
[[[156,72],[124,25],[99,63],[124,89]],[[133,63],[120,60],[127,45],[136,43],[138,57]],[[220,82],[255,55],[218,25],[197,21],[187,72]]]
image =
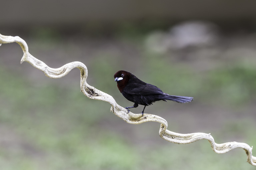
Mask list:
[[141,114],[134,114],[129,112],[126,113],[126,109],[122,106],[118,105],[115,99],[107,94],[104,93],[93,86],[87,84],[86,79],[88,76],[86,66],[81,62],[71,62],[65,64],[64,66],[53,69],[48,67],[44,62],[36,59],[28,52],[28,45],[27,43],[21,39],[20,37],[12,37],[12,36],[4,36],[0,34],[0,45],[7,44],[7,43],[18,43],[22,50],[23,50],[23,57],[21,59],[22,62],[28,62],[35,68],[44,72],[45,76],[58,79],[61,77],[66,76],[72,69],[78,68],[81,72],[81,79],[80,79],[80,88],[81,91],[86,95],[88,98],[106,101],[111,105],[110,111],[112,111],[115,115],[126,121],[130,124],[141,124],[148,121],[155,121],[161,124],[159,135],[163,139],[176,143],[176,144],[188,144],[195,142],[197,140],[206,139],[210,142],[212,150],[216,153],[226,153],[235,148],[242,148],[245,150],[247,154],[247,162],[253,166],[256,166],[256,157],[252,156],[252,147],[250,147],[246,143],[239,143],[239,142],[227,142],[222,144],[217,144],[214,141],[214,138],[210,134],[206,133],[189,133],[189,134],[180,134],[175,133],[172,131],[167,130],[168,123],[165,119],[160,116],[153,115],[153,114],[146,114],[142,116]]

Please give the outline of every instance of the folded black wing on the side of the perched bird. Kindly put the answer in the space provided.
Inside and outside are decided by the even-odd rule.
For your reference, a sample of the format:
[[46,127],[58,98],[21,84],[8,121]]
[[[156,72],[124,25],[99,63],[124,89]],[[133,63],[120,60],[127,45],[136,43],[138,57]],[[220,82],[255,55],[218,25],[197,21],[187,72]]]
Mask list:
[[135,95],[152,95],[152,94],[163,94],[163,91],[155,85],[140,83],[130,83],[125,87],[125,92],[128,94]]

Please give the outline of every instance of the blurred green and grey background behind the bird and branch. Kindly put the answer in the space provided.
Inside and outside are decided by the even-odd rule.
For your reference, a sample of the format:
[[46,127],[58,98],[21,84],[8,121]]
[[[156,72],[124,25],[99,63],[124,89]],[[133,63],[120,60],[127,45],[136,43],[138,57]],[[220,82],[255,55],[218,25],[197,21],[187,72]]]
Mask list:
[[[224,5],[220,13],[214,10],[218,1],[209,13],[202,10],[207,4],[169,13],[164,2],[155,9],[152,1],[145,10],[135,2],[133,7],[111,1],[115,5],[100,8],[98,15],[99,5],[85,2],[59,7],[54,1],[52,8],[33,3],[19,8],[17,2],[11,8],[6,1],[0,12],[10,15],[0,18],[0,33],[23,38],[30,53],[52,68],[84,63],[87,82],[123,107],[133,103],[116,87],[118,70],[166,93],[193,96],[191,103],[159,101],[146,108],[165,118],[171,131],[211,133],[216,143],[256,146],[256,22],[250,8],[236,11],[242,1],[227,3],[230,8]],[[64,10],[69,5],[80,7]],[[179,11],[186,9],[189,4]],[[128,124],[108,103],[80,92],[78,69],[50,79],[28,63],[20,65],[21,57],[18,44],[0,47],[0,169],[255,169],[242,149],[216,154],[206,140],[187,145],[163,140],[159,123]]]

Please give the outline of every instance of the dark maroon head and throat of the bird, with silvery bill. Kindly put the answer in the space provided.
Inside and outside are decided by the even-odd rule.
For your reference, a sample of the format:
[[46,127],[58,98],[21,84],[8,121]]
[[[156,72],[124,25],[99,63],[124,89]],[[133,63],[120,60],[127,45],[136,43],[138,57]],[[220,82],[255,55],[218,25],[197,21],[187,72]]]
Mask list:
[[131,75],[131,73],[124,70],[120,70],[114,75],[115,81],[117,82],[117,87],[120,92],[122,92],[124,87],[127,85]]

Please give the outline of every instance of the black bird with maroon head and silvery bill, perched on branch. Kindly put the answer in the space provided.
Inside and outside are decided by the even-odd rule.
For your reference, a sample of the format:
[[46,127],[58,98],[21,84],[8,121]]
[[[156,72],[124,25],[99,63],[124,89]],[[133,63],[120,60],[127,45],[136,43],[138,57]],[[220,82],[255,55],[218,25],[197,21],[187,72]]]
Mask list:
[[114,79],[123,96],[134,103],[133,106],[125,107],[128,113],[130,112],[129,108],[136,108],[139,104],[144,105],[141,112],[143,116],[146,106],[153,104],[155,101],[172,100],[179,103],[188,103],[194,100],[193,97],[169,95],[164,93],[157,86],[145,83],[133,74],[124,70],[116,72]]

